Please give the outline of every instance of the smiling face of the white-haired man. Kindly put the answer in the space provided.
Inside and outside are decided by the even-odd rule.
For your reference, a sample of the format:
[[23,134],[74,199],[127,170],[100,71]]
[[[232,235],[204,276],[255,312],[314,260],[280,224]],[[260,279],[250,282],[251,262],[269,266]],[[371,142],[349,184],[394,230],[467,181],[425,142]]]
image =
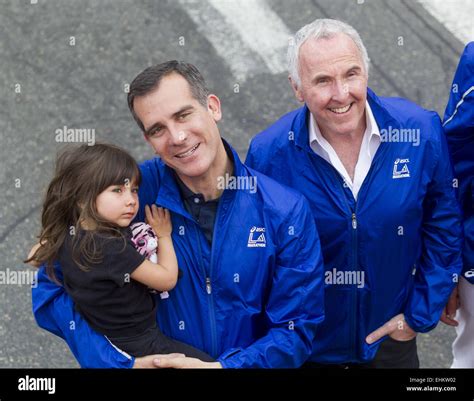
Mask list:
[[304,42],[299,74],[301,84],[292,82],[295,95],[306,103],[324,136],[364,131],[367,72],[349,36]]

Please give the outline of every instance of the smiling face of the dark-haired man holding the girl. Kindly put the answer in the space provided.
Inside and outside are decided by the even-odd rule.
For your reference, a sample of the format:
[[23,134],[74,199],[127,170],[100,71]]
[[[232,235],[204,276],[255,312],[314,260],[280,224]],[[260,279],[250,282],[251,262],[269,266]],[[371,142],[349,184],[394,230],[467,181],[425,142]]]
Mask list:
[[221,119],[216,96],[209,95],[204,107],[192,96],[186,79],[172,73],[152,92],[136,97],[133,106],[145,128],[145,139],[178,174],[200,177],[216,162],[222,143],[216,124]]

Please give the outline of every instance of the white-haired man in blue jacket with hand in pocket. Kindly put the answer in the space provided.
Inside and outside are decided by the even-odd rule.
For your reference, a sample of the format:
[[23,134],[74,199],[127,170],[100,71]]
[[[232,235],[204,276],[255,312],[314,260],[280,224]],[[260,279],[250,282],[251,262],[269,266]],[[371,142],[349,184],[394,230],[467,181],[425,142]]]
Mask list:
[[435,112],[367,87],[359,34],[301,28],[288,50],[300,109],[257,135],[246,163],[303,193],[325,263],[325,320],[309,365],[419,366],[461,271],[461,221]]

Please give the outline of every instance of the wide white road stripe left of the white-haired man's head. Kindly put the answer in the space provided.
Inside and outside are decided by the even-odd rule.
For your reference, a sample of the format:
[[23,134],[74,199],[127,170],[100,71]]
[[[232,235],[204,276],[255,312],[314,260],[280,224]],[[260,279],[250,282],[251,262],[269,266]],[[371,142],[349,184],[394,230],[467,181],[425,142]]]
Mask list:
[[286,49],[292,33],[266,1],[179,3],[238,81],[258,73],[286,72]]

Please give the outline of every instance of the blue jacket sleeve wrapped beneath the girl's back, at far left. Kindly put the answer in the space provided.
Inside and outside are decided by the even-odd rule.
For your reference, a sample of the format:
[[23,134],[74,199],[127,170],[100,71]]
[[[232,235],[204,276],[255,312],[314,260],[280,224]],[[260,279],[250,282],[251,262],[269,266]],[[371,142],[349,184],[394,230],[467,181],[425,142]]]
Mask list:
[[[59,265],[56,276],[61,281]],[[32,288],[33,314],[38,325],[64,339],[83,368],[131,368],[134,358],[112,345],[105,336],[90,328],[75,311],[64,287],[52,282],[44,267]]]

